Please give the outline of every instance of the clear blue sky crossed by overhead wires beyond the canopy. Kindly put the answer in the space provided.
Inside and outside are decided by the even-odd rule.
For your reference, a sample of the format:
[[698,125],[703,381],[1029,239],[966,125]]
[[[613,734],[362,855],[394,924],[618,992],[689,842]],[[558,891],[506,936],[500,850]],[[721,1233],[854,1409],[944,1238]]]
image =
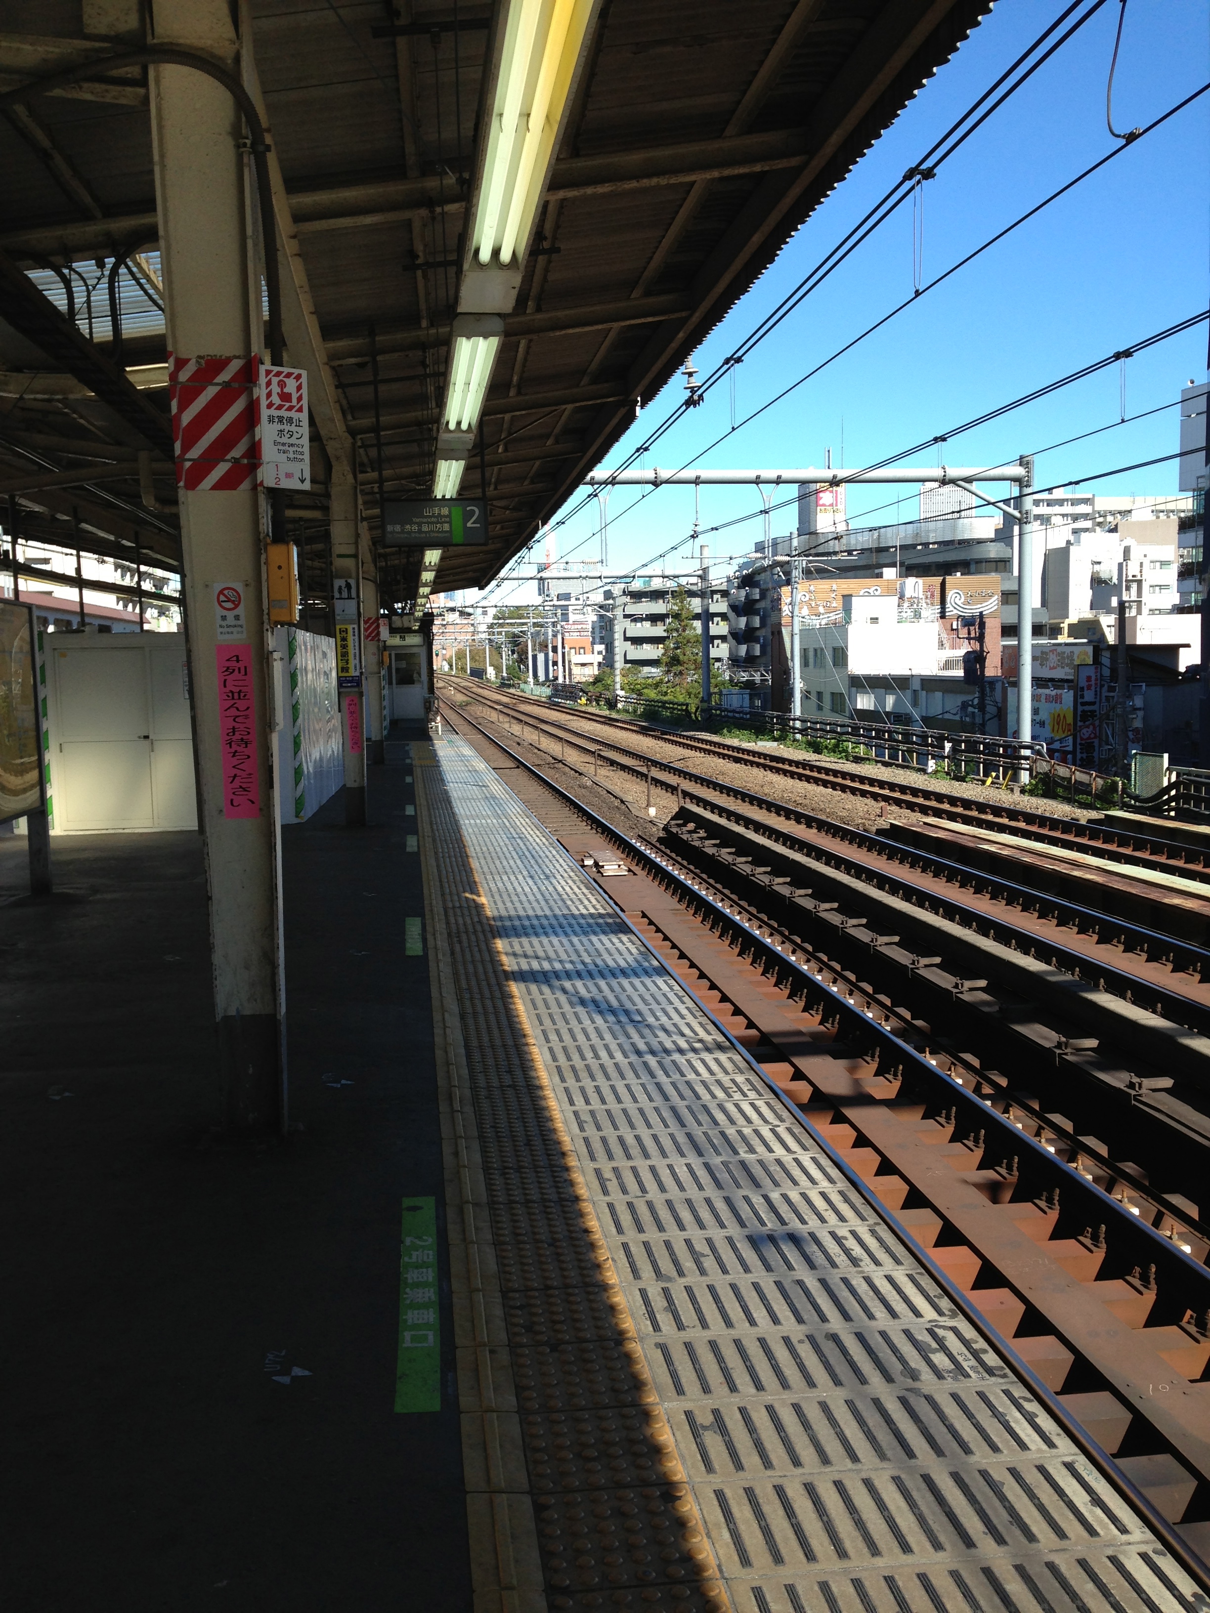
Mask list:
[[[994,6],[695,352],[702,374],[732,352],[1060,10],[1062,0],[1000,0]],[[1207,0],[1129,0],[1113,85],[1115,127],[1150,123],[1210,79],[1207,10]],[[1102,6],[924,185],[924,281],[1116,144],[1105,127],[1105,82],[1118,11],[1118,0]],[[839,465],[842,444],[847,466],[871,463],[1194,315],[1207,305],[1210,281],[1208,173],[1205,95],[753,424],[705,452],[731,426],[723,384],[661,439],[645,465],[821,465],[828,447]],[[745,360],[736,373],[737,419],[910,295],[912,232],[907,205]],[[1191,377],[1204,379],[1205,355],[1207,331],[1200,326],[1129,360],[1128,415],[1168,403]],[[605,465],[621,463],[681,397],[678,377],[645,402]],[[1107,426],[1118,415],[1120,374],[1113,366],[952,439],[944,455],[950,465],[1012,460]],[[1176,408],[1120,426],[1041,456],[1037,484],[1171,453],[1176,434]],[[929,465],[939,452],[913,460]],[[1171,494],[1176,466],[1108,477],[1084,490]],[[610,569],[642,566],[681,534],[689,536],[692,489],[663,489],[642,505],[637,494],[618,489],[610,497]],[[850,521],[886,500],[886,489],[850,490]],[[702,492],[703,527],[758,508],[753,489]],[[905,497],[902,518],[913,516],[915,498]],[[871,516],[894,518],[894,503]],[[774,532],[791,526],[789,508],[774,513]],[[755,519],[705,540],[721,563],[724,555],[750,550],[760,532]],[[599,553],[595,505],[571,518],[557,548],[586,558]],[[689,553],[686,547],[681,565]],[[531,558],[537,555],[534,550]]]

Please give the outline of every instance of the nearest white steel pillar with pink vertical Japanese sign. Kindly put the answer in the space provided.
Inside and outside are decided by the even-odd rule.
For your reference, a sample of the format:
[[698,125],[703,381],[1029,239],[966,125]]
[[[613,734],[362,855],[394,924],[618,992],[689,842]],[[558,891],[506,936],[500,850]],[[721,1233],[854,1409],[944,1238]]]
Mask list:
[[[156,0],[155,44],[200,50],[229,69],[239,55],[224,0]],[[216,387],[213,397],[237,408],[236,366],[261,345],[260,329],[248,326],[244,124],[231,94],[189,68],[153,66],[150,106],[169,360],[229,358],[236,386]],[[200,392],[182,390],[186,397],[205,406]],[[250,390],[247,410],[252,421]],[[239,468],[219,466],[219,477],[239,484]],[[229,1124],[284,1131],[281,837],[261,502],[253,477],[224,492],[179,486],[179,502],[223,1098]],[[242,616],[219,619],[219,589],[240,595]],[[234,594],[224,598],[236,603]]]

